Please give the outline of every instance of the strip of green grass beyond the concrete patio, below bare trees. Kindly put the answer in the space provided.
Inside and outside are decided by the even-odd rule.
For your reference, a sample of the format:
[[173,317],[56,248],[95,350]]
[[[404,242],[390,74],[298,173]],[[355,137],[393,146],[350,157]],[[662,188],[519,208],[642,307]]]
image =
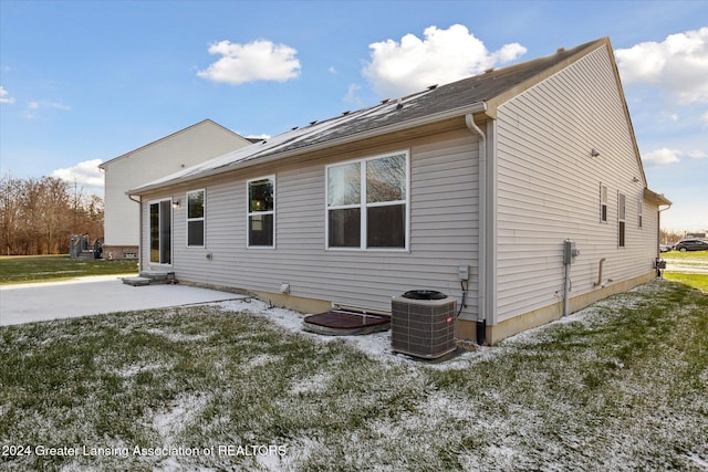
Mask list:
[[0,256],[0,285],[137,273],[137,261],[72,260],[69,255]]

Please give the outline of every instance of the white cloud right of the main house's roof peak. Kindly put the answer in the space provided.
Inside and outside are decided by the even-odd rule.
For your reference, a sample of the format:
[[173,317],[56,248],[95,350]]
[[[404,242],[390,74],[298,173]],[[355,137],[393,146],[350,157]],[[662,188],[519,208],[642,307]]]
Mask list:
[[708,102],[708,27],[615,51],[625,85],[646,83],[680,104]]

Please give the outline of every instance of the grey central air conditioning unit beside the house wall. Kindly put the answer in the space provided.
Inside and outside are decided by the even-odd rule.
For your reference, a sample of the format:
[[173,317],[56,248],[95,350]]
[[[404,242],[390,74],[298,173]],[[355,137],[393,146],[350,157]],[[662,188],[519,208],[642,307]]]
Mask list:
[[414,290],[391,301],[393,350],[424,359],[437,359],[457,349],[455,307],[444,293]]

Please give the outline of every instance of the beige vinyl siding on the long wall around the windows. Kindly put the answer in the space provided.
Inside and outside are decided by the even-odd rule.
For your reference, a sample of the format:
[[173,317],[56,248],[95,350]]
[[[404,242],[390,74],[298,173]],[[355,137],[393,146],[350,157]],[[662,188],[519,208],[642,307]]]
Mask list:
[[[409,251],[326,250],[325,166],[402,149],[410,151]],[[184,198],[188,189],[206,188],[207,201],[205,248],[185,247],[185,211],[175,212],[174,270],[186,281],[252,291],[278,292],[287,282],[294,296],[387,311],[392,296],[412,289],[460,298],[457,268],[468,264],[466,313],[476,314],[477,149],[472,134],[454,130],[170,189],[169,196]],[[275,248],[247,248],[246,181],[266,175],[275,176]]]

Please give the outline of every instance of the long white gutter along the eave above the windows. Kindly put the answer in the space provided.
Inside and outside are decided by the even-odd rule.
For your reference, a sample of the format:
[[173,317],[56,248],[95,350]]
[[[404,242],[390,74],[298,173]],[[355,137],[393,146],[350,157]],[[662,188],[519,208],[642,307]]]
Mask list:
[[[405,104],[404,104],[404,106],[405,106]],[[460,106],[460,107],[457,107],[457,108],[448,109],[448,111],[436,113],[436,114],[433,114],[433,115],[426,115],[426,116],[421,116],[419,118],[413,118],[413,119],[408,119],[408,120],[405,120],[405,122],[395,123],[393,125],[382,126],[382,127],[377,127],[377,128],[374,128],[374,129],[368,129],[368,130],[365,130],[365,132],[342,136],[340,138],[330,139],[330,140],[322,141],[322,143],[315,143],[315,144],[310,145],[310,146],[304,146],[304,147],[300,147],[300,148],[296,148],[296,149],[287,150],[287,151],[283,151],[283,153],[274,153],[272,155],[264,156],[264,157],[252,157],[252,158],[246,157],[241,161],[227,164],[227,165],[214,168],[214,169],[208,169],[208,170],[204,170],[204,171],[200,171],[200,172],[196,172],[194,175],[188,175],[188,176],[184,176],[184,177],[176,177],[173,180],[160,181],[160,182],[157,182],[157,183],[147,183],[145,186],[140,186],[140,187],[137,187],[135,189],[127,190],[126,195],[128,195],[128,196],[129,195],[140,195],[143,192],[155,190],[155,189],[158,189],[158,188],[169,187],[169,186],[174,186],[174,185],[178,185],[178,183],[183,183],[183,182],[187,182],[187,181],[191,181],[191,180],[198,180],[198,179],[202,179],[202,178],[206,178],[206,177],[211,177],[211,176],[216,176],[216,175],[223,174],[223,172],[230,172],[232,170],[243,169],[243,168],[256,166],[256,165],[260,165],[260,164],[267,164],[267,162],[272,162],[272,161],[280,160],[280,159],[287,159],[289,157],[299,156],[301,154],[313,153],[313,151],[317,151],[317,150],[322,150],[322,149],[327,149],[327,148],[334,147],[334,146],[341,146],[341,145],[354,143],[354,141],[357,141],[357,140],[363,140],[363,139],[368,139],[368,138],[373,138],[373,137],[377,137],[377,136],[383,136],[383,135],[386,135],[386,134],[396,133],[396,132],[400,132],[400,130],[408,129],[408,128],[414,128],[416,126],[428,125],[428,124],[431,124],[431,123],[441,122],[441,120],[445,120],[445,119],[450,119],[450,118],[464,116],[464,115],[467,115],[467,114],[482,113],[486,109],[487,109],[487,104],[483,103],[483,102],[478,102],[478,103],[473,103],[471,105]]]

